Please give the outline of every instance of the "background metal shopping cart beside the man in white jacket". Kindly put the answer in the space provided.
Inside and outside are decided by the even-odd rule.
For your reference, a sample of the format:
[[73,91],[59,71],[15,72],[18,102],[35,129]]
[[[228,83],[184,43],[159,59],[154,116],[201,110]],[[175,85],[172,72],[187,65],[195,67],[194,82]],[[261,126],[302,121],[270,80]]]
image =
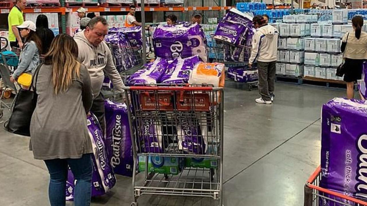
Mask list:
[[[214,38],[214,35],[210,35],[208,38],[208,56],[216,62],[224,63],[228,70],[226,71],[226,79],[235,82],[243,82],[244,85],[251,90],[256,88],[258,80],[251,78],[246,79],[240,77],[237,73],[239,70],[257,70],[256,64],[252,65],[252,69],[248,69],[248,59],[251,55],[250,46],[235,46],[224,42],[220,39]],[[256,72],[257,75],[257,72]],[[257,78],[256,78],[257,79]]]

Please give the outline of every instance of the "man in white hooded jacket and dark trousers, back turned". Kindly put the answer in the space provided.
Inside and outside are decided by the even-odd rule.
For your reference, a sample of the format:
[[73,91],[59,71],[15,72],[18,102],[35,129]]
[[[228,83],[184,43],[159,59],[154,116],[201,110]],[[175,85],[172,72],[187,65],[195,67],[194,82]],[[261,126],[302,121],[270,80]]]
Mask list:
[[248,65],[252,67],[254,61],[257,60],[258,86],[261,95],[255,101],[259,104],[272,104],[275,97],[274,82],[279,33],[273,26],[268,25],[262,16],[254,16],[252,21],[255,27],[258,26],[258,30],[252,38],[252,50]]

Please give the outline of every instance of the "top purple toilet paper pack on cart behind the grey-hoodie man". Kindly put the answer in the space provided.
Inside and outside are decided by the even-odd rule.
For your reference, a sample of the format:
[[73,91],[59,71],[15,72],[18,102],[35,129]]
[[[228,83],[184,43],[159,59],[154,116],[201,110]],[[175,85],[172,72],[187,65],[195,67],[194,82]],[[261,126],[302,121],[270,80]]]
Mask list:
[[109,29],[108,33],[123,33],[130,41],[132,47],[141,48],[143,40],[141,37],[141,26],[133,27],[113,27]]

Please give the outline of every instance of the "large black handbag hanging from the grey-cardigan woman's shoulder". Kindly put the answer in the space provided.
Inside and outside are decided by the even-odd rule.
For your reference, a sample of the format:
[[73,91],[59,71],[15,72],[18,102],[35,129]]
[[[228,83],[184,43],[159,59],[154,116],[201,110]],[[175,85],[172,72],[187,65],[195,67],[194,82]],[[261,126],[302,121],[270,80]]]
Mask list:
[[[23,136],[30,136],[30,120],[32,119],[32,115],[37,104],[36,87],[41,65],[42,64],[37,66],[36,71],[32,76],[32,84],[29,89],[20,89],[18,94],[15,96],[11,116],[4,124],[4,127],[8,132]],[[35,86],[33,86],[34,79],[36,79]]]

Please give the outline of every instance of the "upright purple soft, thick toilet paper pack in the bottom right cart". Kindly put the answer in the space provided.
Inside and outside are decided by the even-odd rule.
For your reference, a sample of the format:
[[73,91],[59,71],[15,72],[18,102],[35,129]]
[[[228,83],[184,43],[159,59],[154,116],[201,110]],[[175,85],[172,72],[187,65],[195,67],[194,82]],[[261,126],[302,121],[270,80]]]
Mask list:
[[367,200],[366,124],[367,101],[334,98],[323,105],[320,187]]

